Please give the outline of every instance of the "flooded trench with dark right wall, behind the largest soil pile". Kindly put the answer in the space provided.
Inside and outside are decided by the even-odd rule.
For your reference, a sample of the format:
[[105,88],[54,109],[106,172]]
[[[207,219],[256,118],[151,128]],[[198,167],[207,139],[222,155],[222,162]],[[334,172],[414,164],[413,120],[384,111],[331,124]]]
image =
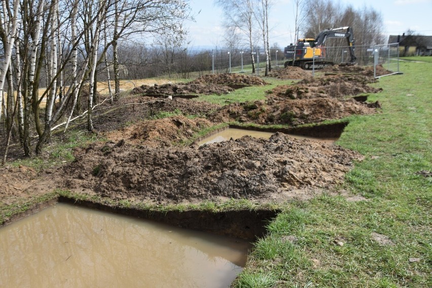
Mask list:
[[334,143],[339,139],[343,129],[348,123],[335,123],[325,125],[315,125],[306,127],[292,127],[292,128],[266,128],[266,127],[250,127],[229,125],[228,127],[218,129],[206,136],[199,138],[195,143],[199,146],[209,143],[227,141],[231,138],[238,139],[242,136],[248,135],[256,138],[270,138],[276,132],[281,132],[296,139],[309,139],[313,141],[322,141],[327,143]]

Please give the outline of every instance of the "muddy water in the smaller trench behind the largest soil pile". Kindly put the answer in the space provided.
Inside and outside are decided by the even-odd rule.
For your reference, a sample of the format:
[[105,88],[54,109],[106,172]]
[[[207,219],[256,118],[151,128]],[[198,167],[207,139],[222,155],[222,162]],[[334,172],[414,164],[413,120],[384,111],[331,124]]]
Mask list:
[[[198,142],[198,145],[204,145],[204,144],[210,144],[210,143],[217,143],[222,141],[228,141],[230,138],[238,139],[245,135],[249,135],[255,138],[270,138],[271,135],[273,135],[273,132],[263,132],[263,131],[254,131],[254,130],[246,130],[246,129],[238,129],[238,128],[228,128],[221,132],[218,132],[216,134],[213,134],[209,137],[206,137]],[[309,139],[309,140],[315,140],[315,141],[323,141],[328,143],[334,143],[337,138],[316,138],[316,137],[309,137],[309,136],[301,136],[301,135],[294,135],[294,134],[287,134],[290,137],[296,138],[296,139]]]

